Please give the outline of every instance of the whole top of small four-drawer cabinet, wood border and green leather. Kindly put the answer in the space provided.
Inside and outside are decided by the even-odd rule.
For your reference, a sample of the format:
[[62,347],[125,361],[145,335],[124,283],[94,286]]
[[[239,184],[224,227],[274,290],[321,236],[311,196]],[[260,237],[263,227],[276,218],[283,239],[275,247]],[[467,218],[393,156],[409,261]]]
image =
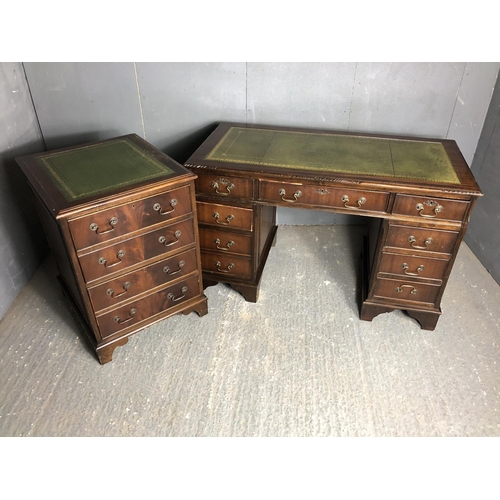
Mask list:
[[89,204],[152,183],[192,176],[136,134],[16,158],[53,211]]

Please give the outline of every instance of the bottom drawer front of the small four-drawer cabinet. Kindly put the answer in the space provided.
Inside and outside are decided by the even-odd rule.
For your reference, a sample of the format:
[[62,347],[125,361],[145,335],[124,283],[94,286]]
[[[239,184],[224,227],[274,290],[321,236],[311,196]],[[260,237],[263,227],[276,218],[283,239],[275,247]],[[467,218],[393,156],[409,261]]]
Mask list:
[[171,309],[200,294],[199,276],[194,275],[159,292],[96,316],[101,337],[109,337],[124,328]]

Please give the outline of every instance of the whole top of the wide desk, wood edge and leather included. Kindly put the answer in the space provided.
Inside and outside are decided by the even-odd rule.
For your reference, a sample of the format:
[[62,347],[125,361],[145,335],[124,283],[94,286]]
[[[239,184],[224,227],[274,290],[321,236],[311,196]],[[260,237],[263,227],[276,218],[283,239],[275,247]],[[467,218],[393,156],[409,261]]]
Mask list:
[[481,195],[455,141],[443,139],[222,123],[186,166],[448,186]]

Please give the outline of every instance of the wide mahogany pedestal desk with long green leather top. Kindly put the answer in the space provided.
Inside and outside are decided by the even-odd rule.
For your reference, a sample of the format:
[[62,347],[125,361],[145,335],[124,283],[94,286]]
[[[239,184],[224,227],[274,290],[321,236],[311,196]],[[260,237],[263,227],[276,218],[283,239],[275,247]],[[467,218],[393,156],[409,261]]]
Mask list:
[[198,176],[205,287],[257,301],[276,206],[363,215],[361,319],[402,309],[426,330],[482,196],[452,140],[221,123],[185,166]]

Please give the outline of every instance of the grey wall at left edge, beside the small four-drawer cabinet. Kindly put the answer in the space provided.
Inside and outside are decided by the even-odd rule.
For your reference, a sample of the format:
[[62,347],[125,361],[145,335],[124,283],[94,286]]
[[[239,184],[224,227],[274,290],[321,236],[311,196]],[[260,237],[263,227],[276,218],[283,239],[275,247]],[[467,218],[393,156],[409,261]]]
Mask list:
[[47,252],[31,192],[14,158],[43,151],[20,63],[0,63],[0,318]]

